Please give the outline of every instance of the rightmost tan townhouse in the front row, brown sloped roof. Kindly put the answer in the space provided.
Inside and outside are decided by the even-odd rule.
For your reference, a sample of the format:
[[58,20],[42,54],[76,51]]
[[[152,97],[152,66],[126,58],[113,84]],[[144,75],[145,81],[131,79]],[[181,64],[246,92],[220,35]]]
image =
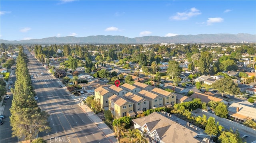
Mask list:
[[172,92],[168,92],[160,88],[154,88],[150,92],[161,96],[163,100],[163,104],[166,107],[171,107],[171,106],[174,106],[174,104],[176,104],[176,94]]

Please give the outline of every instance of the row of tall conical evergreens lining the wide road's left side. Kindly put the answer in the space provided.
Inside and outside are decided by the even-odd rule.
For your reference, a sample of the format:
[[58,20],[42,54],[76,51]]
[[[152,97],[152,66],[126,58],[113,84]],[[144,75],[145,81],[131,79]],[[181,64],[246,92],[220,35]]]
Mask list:
[[16,60],[15,88],[13,93],[12,107],[10,108],[10,125],[12,126],[12,136],[20,139],[26,139],[32,142],[39,132],[49,131],[47,118],[48,113],[42,111],[34,96],[36,95],[28,73],[26,55],[23,53],[23,47],[19,47],[19,55]]

